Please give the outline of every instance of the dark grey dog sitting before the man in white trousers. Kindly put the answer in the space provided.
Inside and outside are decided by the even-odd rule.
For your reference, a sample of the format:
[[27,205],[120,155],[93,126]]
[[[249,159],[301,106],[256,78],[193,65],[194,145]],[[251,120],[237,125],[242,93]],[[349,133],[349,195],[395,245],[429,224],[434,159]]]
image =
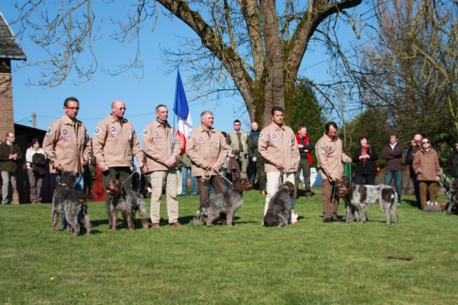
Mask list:
[[264,216],[263,223],[265,227],[284,227],[288,225],[291,221],[289,202],[292,198],[296,198],[296,188],[293,183],[287,181],[270,198],[267,212]]

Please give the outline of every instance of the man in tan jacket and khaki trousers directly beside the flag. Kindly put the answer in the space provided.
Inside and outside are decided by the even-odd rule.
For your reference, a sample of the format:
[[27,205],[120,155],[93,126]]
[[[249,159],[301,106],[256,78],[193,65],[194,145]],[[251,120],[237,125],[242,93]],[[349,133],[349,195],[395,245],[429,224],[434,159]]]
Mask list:
[[[162,186],[166,181],[166,202],[169,224],[182,227],[178,221],[178,199],[176,171],[183,143],[167,122],[169,109],[166,105],[156,107],[156,119],[143,130],[143,151],[147,156],[147,168],[151,171],[151,222],[159,228],[161,216]],[[173,138],[173,140],[172,140]]]

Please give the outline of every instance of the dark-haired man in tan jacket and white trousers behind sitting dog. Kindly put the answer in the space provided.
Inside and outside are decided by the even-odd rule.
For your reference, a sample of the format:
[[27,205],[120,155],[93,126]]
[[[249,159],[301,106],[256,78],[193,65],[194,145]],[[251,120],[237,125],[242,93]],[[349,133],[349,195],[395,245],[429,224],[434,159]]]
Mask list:
[[[265,198],[264,215],[267,213],[270,198],[278,190],[280,172],[283,172],[283,181],[293,185],[294,176],[299,166],[299,148],[291,128],[283,124],[284,110],[282,107],[272,107],[272,124],[262,129],[257,141],[257,149],[265,159],[265,173],[267,176],[267,196]],[[289,203],[291,223],[299,225],[296,213],[296,198]]]

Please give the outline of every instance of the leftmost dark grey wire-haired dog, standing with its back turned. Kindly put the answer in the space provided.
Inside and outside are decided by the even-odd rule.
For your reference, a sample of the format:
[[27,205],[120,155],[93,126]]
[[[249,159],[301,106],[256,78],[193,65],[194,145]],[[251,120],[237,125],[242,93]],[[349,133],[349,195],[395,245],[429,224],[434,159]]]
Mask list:
[[68,230],[73,230],[75,236],[78,236],[80,235],[78,217],[80,217],[82,225],[86,228],[87,234],[91,232],[85,199],[94,199],[95,197],[73,189],[75,186],[75,178],[76,174],[70,171],[65,171],[65,173],[60,176],[53,193],[51,225],[53,231],[57,230],[58,215],[65,215]]

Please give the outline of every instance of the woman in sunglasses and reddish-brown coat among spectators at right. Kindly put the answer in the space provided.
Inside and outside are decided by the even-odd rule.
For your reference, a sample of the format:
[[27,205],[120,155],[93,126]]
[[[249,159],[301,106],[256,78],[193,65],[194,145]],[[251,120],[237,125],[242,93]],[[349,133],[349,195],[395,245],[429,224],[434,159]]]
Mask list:
[[427,193],[430,194],[430,202],[436,204],[436,181],[440,179],[440,166],[437,152],[432,149],[429,139],[422,139],[422,149],[415,154],[412,166],[420,186],[422,209],[427,205]]

